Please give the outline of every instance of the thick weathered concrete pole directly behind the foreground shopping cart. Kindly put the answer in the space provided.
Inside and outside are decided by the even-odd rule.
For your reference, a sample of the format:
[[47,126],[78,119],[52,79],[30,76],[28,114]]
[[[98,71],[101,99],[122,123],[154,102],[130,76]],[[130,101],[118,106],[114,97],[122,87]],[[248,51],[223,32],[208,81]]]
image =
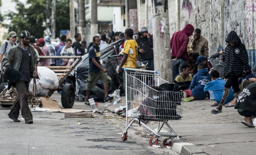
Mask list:
[[154,65],[160,76],[172,82],[168,0],[152,0]]

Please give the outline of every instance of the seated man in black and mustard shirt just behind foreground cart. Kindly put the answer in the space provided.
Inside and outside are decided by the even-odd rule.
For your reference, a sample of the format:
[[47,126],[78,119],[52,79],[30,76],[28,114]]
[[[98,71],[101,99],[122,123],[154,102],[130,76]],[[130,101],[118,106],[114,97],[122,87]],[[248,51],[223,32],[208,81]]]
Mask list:
[[182,73],[176,75],[174,78],[174,82],[181,86],[181,90],[187,90],[189,89],[189,86],[192,81],[192,76],[190,75],[190,66],[188,64],[183,64],[182,67]]

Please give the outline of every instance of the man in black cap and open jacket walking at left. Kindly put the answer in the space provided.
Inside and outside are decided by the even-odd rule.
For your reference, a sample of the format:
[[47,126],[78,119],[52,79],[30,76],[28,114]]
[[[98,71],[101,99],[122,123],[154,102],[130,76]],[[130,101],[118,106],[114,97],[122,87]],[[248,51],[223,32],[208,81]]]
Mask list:
[[1,64],[6,67],[7,70],[13,70],[18,73],[17,81],[11,81],[12,77],[5,75],[16,86],[18,98],[15,100],[10,113],[8,114],[14,122],[20,122],[18,120],[20,108],[21,115],[25,119],[25,123],[33,123],[33,116],[29,109],[27,92],[29,90],[30,78],[37,77],[37,64],[38,58],[34,51],[34,47],[29,44],[30,34],[28,31],[22,31],[20,33],[20,43],[11,48],[3,55]]

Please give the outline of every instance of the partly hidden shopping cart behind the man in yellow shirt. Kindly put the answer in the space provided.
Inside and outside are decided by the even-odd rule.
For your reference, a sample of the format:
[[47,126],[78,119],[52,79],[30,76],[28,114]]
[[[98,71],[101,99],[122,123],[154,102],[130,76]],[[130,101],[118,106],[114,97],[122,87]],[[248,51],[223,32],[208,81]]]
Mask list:
[[118,83],[119,83],[118,89],[119,90],[124,90],[123,76],[118,72],[119,65],[121,64],[121,61],[122,61],[123,57],[122,57],[122,55],[119,54],[119,55],[110,55],[110,56],[108,56],[108,58],[110,60],[110,63],[113,66],[116,78],[117,78]]

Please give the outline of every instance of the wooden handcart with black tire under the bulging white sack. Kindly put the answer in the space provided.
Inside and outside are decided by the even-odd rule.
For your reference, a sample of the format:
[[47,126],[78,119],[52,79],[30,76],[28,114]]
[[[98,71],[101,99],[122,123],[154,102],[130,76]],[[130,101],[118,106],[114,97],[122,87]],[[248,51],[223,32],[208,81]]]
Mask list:
[[[62,91],[61,94],[61,104],[63,108],[72,108],[74,105],[74,99],[75,99],[75,88],[72,84],[65,84],[62,88],[62,83],[65,81],[65,79],[69,76],[69,74],[74,70],[75,66],[82,60],[81,56],[38,56],[38,59],[75,59],[74,63],[71,66],[44,66],[49,69],[52,69],[58,77],[59,80],[59,86],[56,90]],[[3,71],[1,72],[1,76]],[[36,89],[35,80],[34,80],[34,87],[33,90]],[[14,104],[16,98],[18,97],[18,94],[16,92],[16,89],[14,87],[11,87],[13,91],[13,95],[10,94],[10,91],[7,91],[7,88],[3,87],[2,92],[0,93],[0,105],[2,107],[10,107]],[[50,97],[54,91],[51,90],[46,96],[44,97]],[[38,100],[38,97],[35,93],[30,94],[28,93],[28,103],[29,105],[40,105],[40,101]]]

